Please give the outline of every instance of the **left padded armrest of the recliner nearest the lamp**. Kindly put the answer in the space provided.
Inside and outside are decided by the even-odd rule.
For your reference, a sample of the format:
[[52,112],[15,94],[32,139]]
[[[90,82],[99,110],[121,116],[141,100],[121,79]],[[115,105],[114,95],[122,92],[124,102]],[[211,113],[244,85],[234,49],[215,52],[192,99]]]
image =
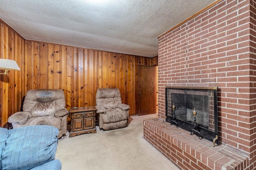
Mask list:
[[9,123],[25,124],[32,117],[29,112],[16,112],[8,118]]

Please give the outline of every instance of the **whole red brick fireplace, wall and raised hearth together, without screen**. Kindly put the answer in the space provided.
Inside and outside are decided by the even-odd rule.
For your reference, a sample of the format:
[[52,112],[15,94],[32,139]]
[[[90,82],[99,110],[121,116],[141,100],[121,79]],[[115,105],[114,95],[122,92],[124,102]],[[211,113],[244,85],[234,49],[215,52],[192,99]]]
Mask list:
[[[256,169],[255,40],[255,0],[221,0],[158,37],[158,119],[144,137],[181,168]],[[218,87],[219,146],[163,122],[172,86]]]

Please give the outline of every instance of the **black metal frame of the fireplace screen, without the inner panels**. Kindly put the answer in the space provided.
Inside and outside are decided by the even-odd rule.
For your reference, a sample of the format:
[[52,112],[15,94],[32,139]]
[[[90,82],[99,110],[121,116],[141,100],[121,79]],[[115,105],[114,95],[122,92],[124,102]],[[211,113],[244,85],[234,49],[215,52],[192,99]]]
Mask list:
[[[180,119],[175,118],[176,120],[172,120],[173,117],[171,115],[168,114],[168,89],[176,89],[176,90],[191,90],[191,89],[195,89],[195,90],[211,90],[213,91],[213,95],[214,95],[214,131],[212,130],[208,130],[207,128],[198,126],[198,130],[200,131],[200,135],[203,138],[210,140],[211,142],[213,142],[213,146],[215,146],[215,144],[219,144],[218,141],[218,105],[217,105],[217,90],[218,87],[165,87],[165,103],[166,103],[166,122],[168,123],[173,123],[174,121],[176,121],[176,127],[181,127],[184,130],[187,130],[189,132],[191,132],[191,130],[194,128],[194,124],[193,123],[189,123],[187,121],[183,121]],[[174,112],[175,114],[175,112]],[[191,132],[192,134],[192,132]],[[193,133],[194,134],[194,133]]]

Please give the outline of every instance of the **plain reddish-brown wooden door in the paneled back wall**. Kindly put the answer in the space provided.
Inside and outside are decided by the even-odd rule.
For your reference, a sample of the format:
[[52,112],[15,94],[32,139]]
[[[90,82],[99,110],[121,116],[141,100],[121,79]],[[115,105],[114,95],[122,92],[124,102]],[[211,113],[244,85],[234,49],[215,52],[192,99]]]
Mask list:
[[138,113],[156,113],[156,71],[155,66],[139,65]]

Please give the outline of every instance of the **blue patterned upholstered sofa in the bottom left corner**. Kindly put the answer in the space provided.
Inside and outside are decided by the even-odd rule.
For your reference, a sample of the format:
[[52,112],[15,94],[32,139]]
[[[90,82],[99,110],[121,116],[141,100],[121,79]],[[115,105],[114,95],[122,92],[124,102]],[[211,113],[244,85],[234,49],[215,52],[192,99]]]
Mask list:
[[58,132],[48,125],[0,128],[0,170],[60,170]]

